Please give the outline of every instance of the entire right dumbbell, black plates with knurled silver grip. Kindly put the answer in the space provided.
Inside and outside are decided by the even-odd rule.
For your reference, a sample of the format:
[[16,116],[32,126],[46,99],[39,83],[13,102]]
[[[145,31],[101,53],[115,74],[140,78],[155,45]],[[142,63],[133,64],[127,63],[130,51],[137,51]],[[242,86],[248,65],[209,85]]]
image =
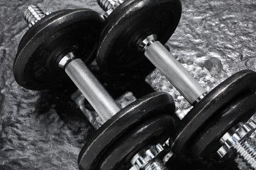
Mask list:
[[[192,147],[190,154],[205,157],[205,154],[213,153],[219,147],[219,153],[225,153],[231,147],[223,146],[224,150],[221,143],[226,145],[229,142],[230,139],[226,139],[229,130],[249,128],[251,130],[244,136],[248,137],[255,129],[254,122],[244,124],[255,111],[255,72],[241,71],[207,94],[164,48],[163,44],[171,37],[181,18],[179,0],[98,0],[98,4],[106,12],[96,57],[100,68],[110,75],[121,74],[148,58],[194,106],[171,137],[174,152],[187,153]],[[146,58],[141,51],[144,51]],[[232,109],[234,107],[241,109],[239,114]],[[212,128],[215,132],[209,135]],[[255,168],[255,144],[249,145],[249,148],[244,148],[246,155],[237,148],[234,150]],[[232,146],[235,146],[234,143]],[[253,154],[249,151],[252,148]]]

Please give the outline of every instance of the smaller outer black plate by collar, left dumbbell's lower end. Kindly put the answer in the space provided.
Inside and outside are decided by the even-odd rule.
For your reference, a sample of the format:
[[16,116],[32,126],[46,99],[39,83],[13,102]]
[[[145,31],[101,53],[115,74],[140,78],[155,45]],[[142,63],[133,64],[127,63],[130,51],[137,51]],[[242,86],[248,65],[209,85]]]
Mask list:
[[151,118],[144,124],[125,133],[117,143],[112,144],[100,162],[101,170],[130,169],[130,161],[137,152],[148,144],[163,144],[173,131],[175,122],[169,115],[160,115]]

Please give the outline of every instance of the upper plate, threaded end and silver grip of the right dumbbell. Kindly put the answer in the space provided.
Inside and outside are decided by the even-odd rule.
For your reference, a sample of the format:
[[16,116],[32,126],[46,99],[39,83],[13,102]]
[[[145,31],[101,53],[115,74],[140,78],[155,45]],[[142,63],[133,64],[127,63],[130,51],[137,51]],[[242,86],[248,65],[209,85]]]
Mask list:
[[162,45],[179,24],[179,0],[98,0],[98,4],[106,11],[96,56],[102,71],[122,74],[147,63],[148,58],[190,104],[205,95],[202,86]]

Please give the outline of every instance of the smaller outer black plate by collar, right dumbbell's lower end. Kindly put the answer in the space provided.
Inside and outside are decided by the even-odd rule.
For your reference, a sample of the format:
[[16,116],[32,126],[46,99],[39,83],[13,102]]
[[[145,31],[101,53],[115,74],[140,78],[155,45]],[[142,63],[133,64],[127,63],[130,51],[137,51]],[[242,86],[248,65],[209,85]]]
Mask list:
[[221,137],[238,122],[247,122],[255,114],[255,104],[255,93],[247,93],[236,99],[220,113],[220,117],[208,121],[203,133],[192,142],[190,154],[196,158],[211,158],[211,154],[216,154],[221,148]]

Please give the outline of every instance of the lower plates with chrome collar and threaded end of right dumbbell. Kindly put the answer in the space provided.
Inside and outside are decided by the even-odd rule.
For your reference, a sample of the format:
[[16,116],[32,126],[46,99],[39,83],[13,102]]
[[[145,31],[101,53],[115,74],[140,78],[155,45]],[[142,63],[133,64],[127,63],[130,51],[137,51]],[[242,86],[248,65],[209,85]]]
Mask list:
[[256,144],[250,139],[256,122],[256,73],[240,71],[219,84],[181,120],[169,143],[175,153],[211,160],[234,151],[256,169]]

